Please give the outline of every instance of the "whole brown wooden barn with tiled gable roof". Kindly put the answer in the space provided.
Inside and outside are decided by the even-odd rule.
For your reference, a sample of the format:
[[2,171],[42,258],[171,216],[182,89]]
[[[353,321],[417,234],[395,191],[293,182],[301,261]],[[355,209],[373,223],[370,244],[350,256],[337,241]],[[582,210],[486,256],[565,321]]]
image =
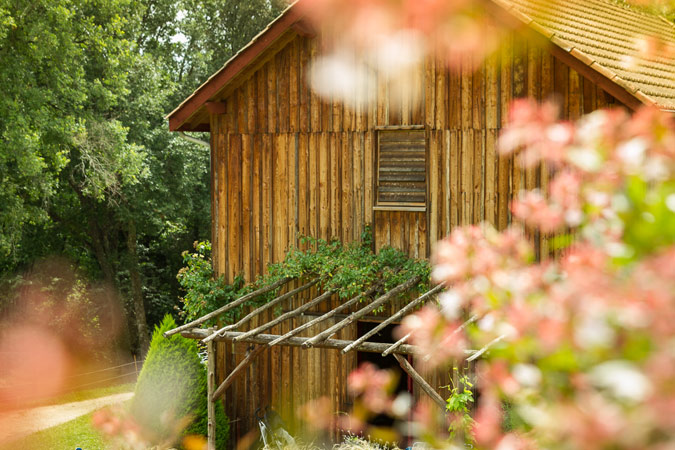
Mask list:
[[[455,226],[487,221],[504,228],[514,195],[523,188],[545,189],[549,179],[545,167],[525,170],[497,156],[495,143],[514,98],[554,97],[570,119],[611,106],[675,110],[675,60],[665,51],[675,46],[675,32],[665,20],[609,0],[486,3],[499,20],[521,26],[478,70],[449,71],[442,61],[429,59],[412,76],[418,89],[409,95],[380,82],[371,89],[375,101],[355,108],[310,89],[306,73],[322,47],[321,33],[291,6],[168,116],[173,131],[210,132],[218,274],[228,280],[243,274],[252,281],[268,263],[282,260],[299,234],[348,242],[372,224],[376,248],[391,245],[426,258]],[[662,54],[640,54],[638,41],[645,34],[665,44]],[[391,100],[401,94],[403,101]],[[540,257],[549,255],[546,236],[531,238]],[[282,292],[297,294],[281,303],[285,311],[321,294],[302,289],[303,283],[291,280],[284,287]],[[266,331],[281,336],[332,313],[285,340],[297,345],[269,348],[264,344],[273,338],[260,335],[233,342],[274,320],[271,309],[211,340],[209,363],[216,375],[210,392],[235,367],[243,372],[218,389],[233,421],[232,442],[255,427],[255,411],[266,405],[290,422],[298,406],[319,396],[331,398],[335,411],[349,409],[345,380],[364,344],[348,353],[340,351],[347,344],[301,346],[302,336],[341,323],[358,309],[335,312],[339,305],[337,297],[313,303]],[[380,318],[359,316],[330,341],[356,340],[398,310],[388,311]],[[200,323],[179,331],[195,338],[211,335],[196,328]],[[247,356],[252,343],[261,345]],[[371,353],[389,346],[383,345]],[[406,361],[415,365],[412,357]],[[442,374],[427,381],[435,389],[447,384]],[[424,395],[417,384],[411,386],[415,397]]]

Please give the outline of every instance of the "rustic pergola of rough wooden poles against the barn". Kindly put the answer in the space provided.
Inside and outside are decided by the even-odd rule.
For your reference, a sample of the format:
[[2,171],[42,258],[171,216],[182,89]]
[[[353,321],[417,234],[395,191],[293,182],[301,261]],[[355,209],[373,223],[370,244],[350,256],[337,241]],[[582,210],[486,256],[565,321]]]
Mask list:
[[[266,294],[275,289],[281,288],[287,283],[296,281],[295,278],[284,278],[279,280],[269,286],[260,288],[254,292],[246,294],[237,300],[228,303],[227,305],[205,314],[204,316],[193,320],[185,325],[174,328],[173,330],[167,331],[164,333],[165,337],[180,333],[182,336],[198,339],[207,344],[207,356],[208,356],[208,448],[209,450],[215,450],[215,402],[223,396],[225,390],[232,384],[235,378],[243,373],[245,369],[255,360],[255,358],[260,355],[265,349],[273,347],[275,345],[285,345],[291,347],[301,347],[301,348],[330,348],[340,350],[342,353],[347,353],[353,350],[361,352],[371,352],[371,353],[381,353],[383,356],[393,355],[401,368],[410,376],[410,378],[422,389],[439,407],[445,410],[445,401],[441,396],[434,390],[432,386],[427,383],[424,378],[413,368],[413,366],[408,362],[408,360],[403,355],[416,355],[424,359],[428,359],[430,355],[425,355],[421,349],[415,345],[410,345],[407,343],[410,338],[410,334],[403,336],[395,343],[377,343],[377,342],[368,342],[367,339],[371,336],[378,333],[380,330],[385,328],[387,325],[390,325],[396,321],[400,321],[403,316],[413,311],[414,308],[421,306],[426,301],[433,299],[436,295],[444,289],[444,286],[437,285],[427,291],[426,293],[420,295],[416,299],[408,302],[405,306],[400,308],[394,314],[389,316],[386,320],[382,321],[372,330],[365,333],[363,336],[359,337],[356,340],[342,340],[342,339],[333,339],[332,337],[341,329],[353,324],[357,320],[363,318],[368,313],[373,310],[382,307],[386,304],[391,303],[394,299],[399,298],[401,295],[405,294],[411,288],[413,288],[417,283],[420,282],[421,277],[413,277],[398,286],[386,291],[381,292],[383,289],[382,283],[375,283],[366,291],[356,295],[350,300],[341,303],[339,306],[331,309],[330,311],[316,317],[315,319],[304,323],[284,335],[276,334],[265,334],[264,332],[279,323],[292,319],[294,317],[301,316],[308,309],[312,308],[328,300],[331,296],[336,294],[336,291],[326,291],[318,295],[317,297],[303,303],[296,309],[288,311],[280,316],[264,323],[263,325],[258,326],[257,328],[251,329],[249,331],[236,331],[242,325],[248,323],[251,319],[258,316],[263,311],[272,308],[273,306],[280,305],[282,302],[291,300],[296,294],[299,294],[302,291],[305,291],[316,284],[318,284],[321,279],[314,278],[309,282],[304,283],[303,285],[292,289],[278,297],[272,299],[271,301],[265,303],[264,305],[254,309],[250,313],[246,314],[236,323],[226,325],[220,329],[217,328],[200,328],[204,322],[214,319],[221,314],[236,308],[237,306],[243,305],[249,300],[252,300],[258,296]],[[373,297],[372,301],[367,302],[369,298]],[[364,301],[367,304],[358,310],[348,314],[343,320],[337,322],[335,325],[332,325],[320,333],[310,336],[310,337],[301,337],[297,336],[302,331],[313,327],[315,325],[320,325],[325,322],[327,319],[334,317],[341,311],[348,310],[351,306],[358,304],[359,302]],[[456,332],[464,328],[469,323],[476,320],[476,316],[470,317]],[[215,378],[215,348],[214,342],[217,341],[232,341],[232,342],[242,342],[253,344],[254,347],[250,348],[247,352],[246,357],[228,374],[225,380],[216,387],[216,378]],[[492,345],[489,344],[489,345]],[[466,350],[467,362],[473,361],[478,358],[487,350],[487,346],[481,350]]]

